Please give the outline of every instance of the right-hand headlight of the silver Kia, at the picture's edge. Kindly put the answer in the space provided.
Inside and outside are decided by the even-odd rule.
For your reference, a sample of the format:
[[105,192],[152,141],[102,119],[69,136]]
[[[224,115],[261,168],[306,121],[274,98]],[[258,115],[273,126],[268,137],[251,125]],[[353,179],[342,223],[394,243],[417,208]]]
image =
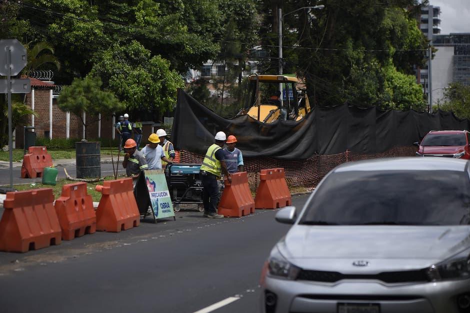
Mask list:
[[427,276],[431,282],[469,279],[470,278],[470,259],[469,250],[465,250],[444,262],[432,265],[427,270]]

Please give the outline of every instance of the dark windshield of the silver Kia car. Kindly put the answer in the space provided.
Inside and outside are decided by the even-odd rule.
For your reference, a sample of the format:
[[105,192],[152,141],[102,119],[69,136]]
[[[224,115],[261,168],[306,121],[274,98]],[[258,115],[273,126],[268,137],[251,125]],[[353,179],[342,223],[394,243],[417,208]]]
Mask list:
[[468,176],[456,171],[331,173],[303,214],[306,225],[470,224]]

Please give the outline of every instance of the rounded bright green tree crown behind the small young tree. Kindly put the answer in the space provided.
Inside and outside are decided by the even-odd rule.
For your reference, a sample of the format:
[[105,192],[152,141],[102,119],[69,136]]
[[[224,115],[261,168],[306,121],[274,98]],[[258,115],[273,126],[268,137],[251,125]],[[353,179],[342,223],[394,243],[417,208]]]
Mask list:
[[169,61],[151,56],[138,41],[116,43],[94,59],[90,75],[100,77],[128,109],[172,109],[181,76]]

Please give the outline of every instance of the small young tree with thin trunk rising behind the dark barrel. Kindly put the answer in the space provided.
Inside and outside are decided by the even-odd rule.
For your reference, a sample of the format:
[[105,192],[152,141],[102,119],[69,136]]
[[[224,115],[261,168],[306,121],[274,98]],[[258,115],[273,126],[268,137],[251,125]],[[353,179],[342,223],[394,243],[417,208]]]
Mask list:
[[75,78],[70,86],[65,86],[57,99],[57,105],[62,111],[70,111],[78,116],[85,127],[96,120],[82,119],[82,112],[97,117],[98,113],[112,114],[124,109],[116,96],[109,91],[101,90],[102,82],[97,77],[88,76],[84,79]]

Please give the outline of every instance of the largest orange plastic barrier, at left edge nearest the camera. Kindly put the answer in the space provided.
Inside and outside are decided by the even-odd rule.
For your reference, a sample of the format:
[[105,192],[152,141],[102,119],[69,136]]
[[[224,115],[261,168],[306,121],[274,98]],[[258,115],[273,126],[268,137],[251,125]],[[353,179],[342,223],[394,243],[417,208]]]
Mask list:
[[27,252],[60,244],[52,189],[8,192],[0,221],[0,251]]

